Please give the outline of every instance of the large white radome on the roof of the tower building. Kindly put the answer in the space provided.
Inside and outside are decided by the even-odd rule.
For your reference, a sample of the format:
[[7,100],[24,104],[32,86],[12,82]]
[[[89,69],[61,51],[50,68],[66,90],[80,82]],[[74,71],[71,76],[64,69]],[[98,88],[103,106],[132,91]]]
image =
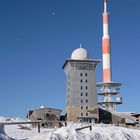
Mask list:
[[85,50],[83,48],[78,48],[72,52],[71,59],[87,60],[87,59],[89,59],[89,54],[88,54],[87,50]]

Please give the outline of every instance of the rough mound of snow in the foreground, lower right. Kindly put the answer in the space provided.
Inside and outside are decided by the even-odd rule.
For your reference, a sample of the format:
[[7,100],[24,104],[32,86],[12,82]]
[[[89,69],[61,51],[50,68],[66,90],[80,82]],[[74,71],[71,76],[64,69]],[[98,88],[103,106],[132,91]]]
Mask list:
[[31,137],[32,140],[140,140],[140,131],[115,127],[93,126],[89,129],[76,131],[73,126],[63,127],[53,132]]

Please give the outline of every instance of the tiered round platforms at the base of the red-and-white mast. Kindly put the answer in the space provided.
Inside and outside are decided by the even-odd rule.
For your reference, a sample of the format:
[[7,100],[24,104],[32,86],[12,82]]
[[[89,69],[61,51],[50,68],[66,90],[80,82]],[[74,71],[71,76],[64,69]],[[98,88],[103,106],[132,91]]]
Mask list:
[[98,104],[109,111],[115,111],[116,105],[122,104],[122,97],[120,94],[120,86],[122,84],[119,82],[99,82],[98,87]]

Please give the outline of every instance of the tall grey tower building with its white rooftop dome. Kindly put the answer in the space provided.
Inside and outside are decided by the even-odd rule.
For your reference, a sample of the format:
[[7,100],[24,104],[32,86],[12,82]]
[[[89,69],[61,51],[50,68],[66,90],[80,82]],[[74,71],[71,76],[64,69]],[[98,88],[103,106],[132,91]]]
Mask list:
[[95,69],[99,62],[90,59],[88,52],[81,47],[72,52],[71,59],[65,61],[67,121],[98,120]]

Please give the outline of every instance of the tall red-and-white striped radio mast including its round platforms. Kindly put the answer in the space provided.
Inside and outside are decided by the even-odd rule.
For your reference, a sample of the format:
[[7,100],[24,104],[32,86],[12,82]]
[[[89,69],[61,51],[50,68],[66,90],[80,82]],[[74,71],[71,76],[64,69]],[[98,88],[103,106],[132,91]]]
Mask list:
[[101,97],[99,98],[98,104],[106,110],[115,111],[116,105],[122,104],[122,98],[119,96],[119,86],[121,86],[121,83],[112,82],[111,49],[108,25],[107,1],[104,0],[102,37],[103,82],[97,83],[97,87],[99,87],[98,95]]

